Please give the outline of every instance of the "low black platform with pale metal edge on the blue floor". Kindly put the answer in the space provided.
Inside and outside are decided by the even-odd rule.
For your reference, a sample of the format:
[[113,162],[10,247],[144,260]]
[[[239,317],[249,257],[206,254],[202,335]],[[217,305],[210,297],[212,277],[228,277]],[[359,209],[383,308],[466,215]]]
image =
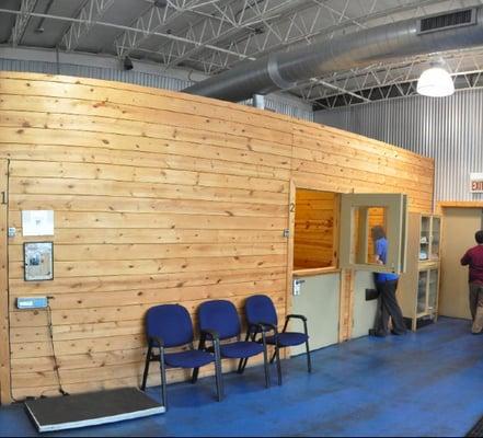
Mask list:
[[162,414],[165,407],[137,388],[26,401],[38,431],[73,429]]

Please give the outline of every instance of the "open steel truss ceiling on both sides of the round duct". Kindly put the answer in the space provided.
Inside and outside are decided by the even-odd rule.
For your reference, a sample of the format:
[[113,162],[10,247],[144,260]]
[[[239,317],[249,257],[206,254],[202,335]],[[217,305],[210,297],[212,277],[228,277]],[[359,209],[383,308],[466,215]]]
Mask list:
[[[0,8],[0,14],[15,16],[9,38],[13,46],[22,43],[31,18],[41,18],[48,23],[68,23],[56,43],[67,51],[83,48],[94,27],[97,31],[107,27],[117,31],[111,47],[119,58],[156,59],[164,69],[183,66],[214,74],[275,50],[297,49],[299,44],[422,16],[435,10],[483,4],[483,0],[136,1],[140,12],[128,25],[107,22],[106,12],[115,10],[115,0],[85,0],[74,16],[39,13],[38,0],[21,0],[19,10]],[[108,45],[107,42],[105,46]],[[457,89],[482,87],[483,49],[480,49],[336,71],[301,81],[285,91],[321,108],[409,96],[415,93],[421,72],[437,57],[445,59]]]

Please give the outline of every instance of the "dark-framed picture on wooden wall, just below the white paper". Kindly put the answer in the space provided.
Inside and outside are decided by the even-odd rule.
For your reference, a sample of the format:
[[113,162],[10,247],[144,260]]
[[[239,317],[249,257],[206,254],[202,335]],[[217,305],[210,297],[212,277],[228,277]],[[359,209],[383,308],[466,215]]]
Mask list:
[[25,281],[54,279],[54,243],[25,242],[23,244]]

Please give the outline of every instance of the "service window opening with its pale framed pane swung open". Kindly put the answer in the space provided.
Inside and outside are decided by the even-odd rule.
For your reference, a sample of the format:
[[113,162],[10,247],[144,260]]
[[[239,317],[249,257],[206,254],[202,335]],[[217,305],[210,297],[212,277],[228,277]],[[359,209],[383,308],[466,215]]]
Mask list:
[[[295,200],[295,276],[340,268],[404,272],[405,195],[337,194],[297,188]],[[375,244],[381,244],[381,232],[387,238],[384,263],[375,257]]]

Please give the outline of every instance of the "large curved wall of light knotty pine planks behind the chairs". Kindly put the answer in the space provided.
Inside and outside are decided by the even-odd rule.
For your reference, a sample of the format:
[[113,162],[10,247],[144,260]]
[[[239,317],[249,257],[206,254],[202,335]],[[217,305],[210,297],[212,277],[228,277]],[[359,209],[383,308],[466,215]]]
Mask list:
[[[337,129],[68,77],[3,72],[0,99],[9,226],[19,230],[9,241],[16,399],[57,393],[46,312],[16,311],[19,296],[55,297],[68,392],[134,385],[150,306],[182,302],[194,313],[207,299],[240,308],[265,292],[284,316],[291,177],[322,191],[405,191],[412,210],[432,210],[432,160]],[[22,238],[22,209],[55,210],[53,281],[23,280],[22,243],[32,239]]]

